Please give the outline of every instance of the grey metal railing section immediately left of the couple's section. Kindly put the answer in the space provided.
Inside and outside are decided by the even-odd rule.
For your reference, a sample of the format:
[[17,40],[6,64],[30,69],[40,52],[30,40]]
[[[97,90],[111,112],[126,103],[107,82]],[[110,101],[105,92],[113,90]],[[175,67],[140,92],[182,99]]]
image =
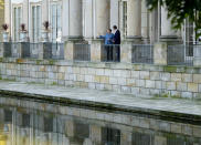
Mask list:
[[91,45],[84,43],[75,43],[74,61],[91,61]]

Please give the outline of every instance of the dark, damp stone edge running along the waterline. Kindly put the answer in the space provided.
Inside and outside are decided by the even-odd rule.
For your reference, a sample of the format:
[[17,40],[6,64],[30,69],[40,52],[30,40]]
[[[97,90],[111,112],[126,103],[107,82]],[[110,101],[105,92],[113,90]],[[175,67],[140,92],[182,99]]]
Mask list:
[[23,100],[34,100],[50,103],[59,103],[63,106],[68,105],[77,105],[80,107],[88,107],[95,108],[96,111],[113,111],[113,112],[121,112],[129,114],[138,114],[139,116],[148,116],[149,118],[165,120],[170,122],[178,123],[188,123],[192,125],[200,125],[201,115],[193,114],[184,114],[179,112],[171,111],[159,111],[159,110],[150,110],[144,107],[136,106],[126,106],[126,105],[117,105],[109,104],[104,102],[95,102],[88,100],[78,100],[78,99],[70,99],[70,97],[59,97],[59,96],[49,96],[42,94],[31,94],[24,92],[9,91],[9,90],[0,90],[1,97],[13,97],[13,99],[23,99]]

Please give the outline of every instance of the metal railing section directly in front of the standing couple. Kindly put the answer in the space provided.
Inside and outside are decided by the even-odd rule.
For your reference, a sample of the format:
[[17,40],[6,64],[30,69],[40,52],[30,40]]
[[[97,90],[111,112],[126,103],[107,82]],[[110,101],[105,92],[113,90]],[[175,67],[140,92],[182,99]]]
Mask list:
[[119,44],[103,44],[102,61],[103,62],[120,62],[120,45]]

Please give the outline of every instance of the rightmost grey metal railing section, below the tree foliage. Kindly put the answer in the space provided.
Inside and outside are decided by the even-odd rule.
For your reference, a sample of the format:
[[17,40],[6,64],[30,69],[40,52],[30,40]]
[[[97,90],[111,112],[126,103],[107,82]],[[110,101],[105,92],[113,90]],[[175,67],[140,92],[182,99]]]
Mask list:
[[193,65],[194,45],[168,45],[168,65]]

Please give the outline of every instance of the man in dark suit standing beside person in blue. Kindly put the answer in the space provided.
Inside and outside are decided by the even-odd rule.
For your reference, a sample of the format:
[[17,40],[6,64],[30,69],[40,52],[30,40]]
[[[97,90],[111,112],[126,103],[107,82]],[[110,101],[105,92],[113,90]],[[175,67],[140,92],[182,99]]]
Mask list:
[[114,54],[114,61],[119,62],[120,61],[120,31],[117,29],[117,25],[113,27],[114,30],[114,49],[113,49],[113,54]]

